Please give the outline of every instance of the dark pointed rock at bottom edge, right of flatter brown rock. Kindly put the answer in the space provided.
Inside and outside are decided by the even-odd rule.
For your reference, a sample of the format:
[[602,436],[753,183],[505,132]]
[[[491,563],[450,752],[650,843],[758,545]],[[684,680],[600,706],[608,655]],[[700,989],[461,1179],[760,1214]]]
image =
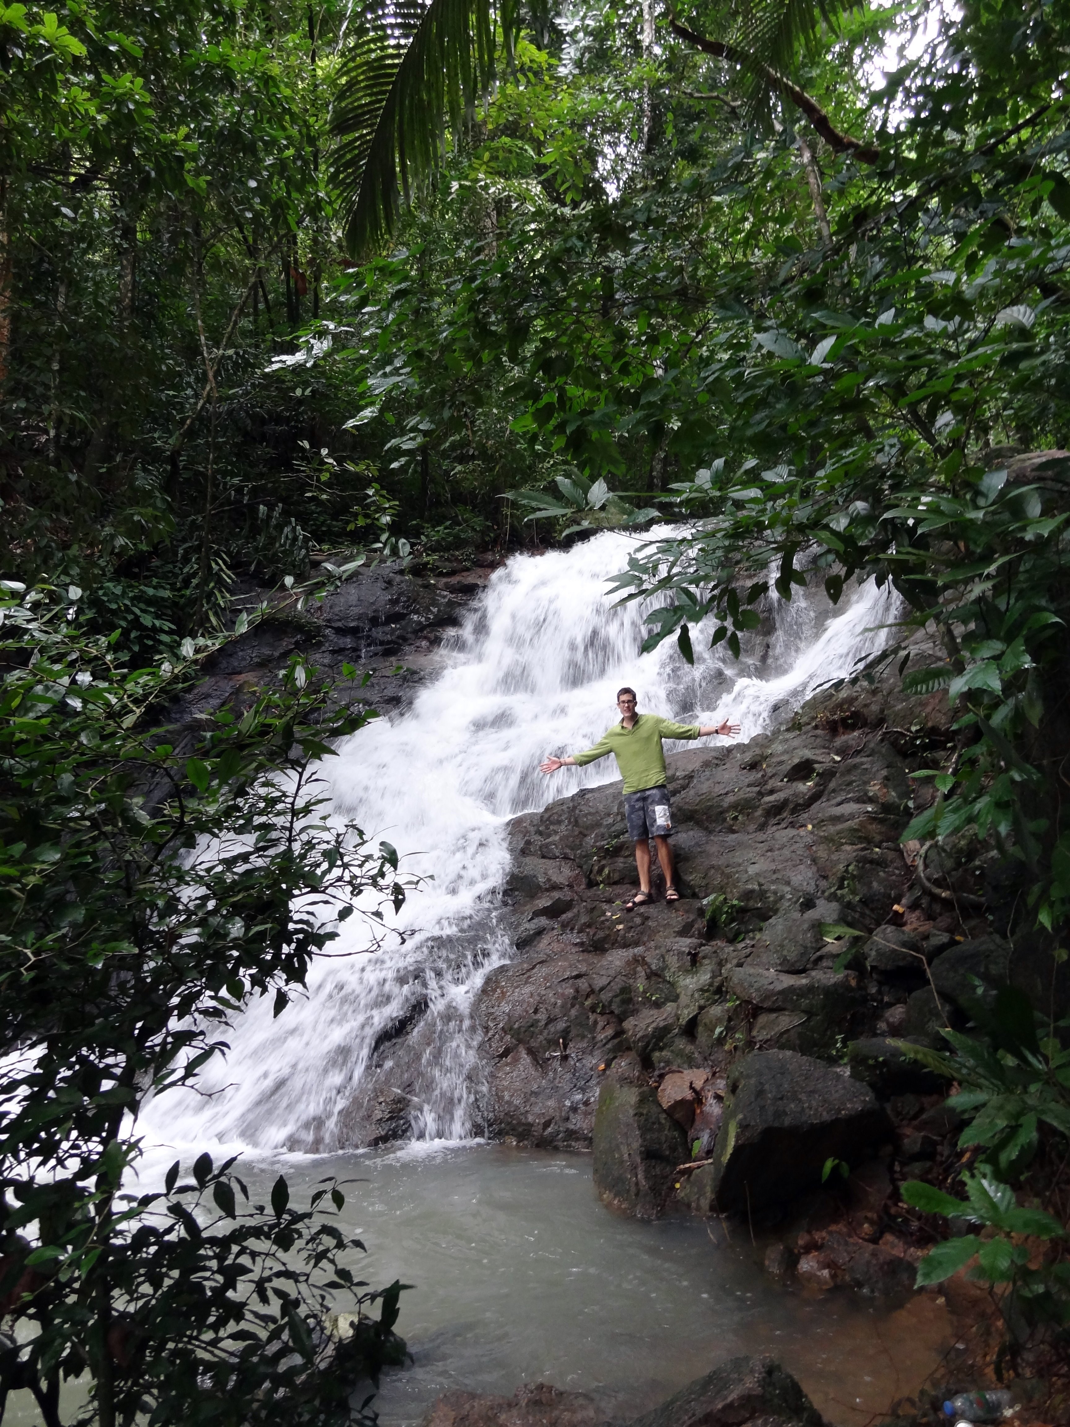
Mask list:
[[[733,1357],[681,1388],[631,1427],[825,1427],[825,1418],[772,1357]],[[444,1424],[445,1427],[445,1424]]]

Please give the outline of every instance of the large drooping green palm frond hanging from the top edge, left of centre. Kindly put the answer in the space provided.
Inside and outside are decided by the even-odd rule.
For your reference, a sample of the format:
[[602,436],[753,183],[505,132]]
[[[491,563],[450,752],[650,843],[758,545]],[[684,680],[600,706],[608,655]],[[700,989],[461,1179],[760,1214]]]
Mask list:
[[[512,0],[502,26],[512,31]],[[350,31],[331,113],[345,241],[365,253],[439,164],[495,70],[494,0],[368,0]]]

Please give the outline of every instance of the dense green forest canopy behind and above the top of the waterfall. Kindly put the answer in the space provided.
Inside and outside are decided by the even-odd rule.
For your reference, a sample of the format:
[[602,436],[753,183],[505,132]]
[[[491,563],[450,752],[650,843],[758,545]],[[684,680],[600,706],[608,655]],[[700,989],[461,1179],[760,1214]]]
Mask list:
[[525,538],[516,489],[1061,445],[1063,10],[504,13],[352,254],[374,26],[9,7],[9,572],[153,655],[315,551]]

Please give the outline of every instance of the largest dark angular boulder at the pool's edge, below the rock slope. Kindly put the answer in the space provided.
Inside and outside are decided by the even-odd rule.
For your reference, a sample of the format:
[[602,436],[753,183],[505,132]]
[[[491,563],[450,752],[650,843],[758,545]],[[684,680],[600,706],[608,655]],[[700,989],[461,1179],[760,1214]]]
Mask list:
[[712,1164],[695,1170],[681,1199],[700,1213],[782,1204],[820,1184],[830,1159],[857,1162],[892,1137],[869,1086],[846,1067],[793,1050],[760,1050],[733,1069]]

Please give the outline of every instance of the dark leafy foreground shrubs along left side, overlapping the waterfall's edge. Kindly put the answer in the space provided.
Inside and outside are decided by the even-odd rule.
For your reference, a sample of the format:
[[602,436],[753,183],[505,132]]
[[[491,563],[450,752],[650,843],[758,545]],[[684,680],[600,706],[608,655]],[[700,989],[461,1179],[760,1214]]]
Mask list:
[[[47,1427],[350,1421],[357,1383],[404,1344],[401,1286],[368,1289],[362,1244],[320,1207],[342,1207],[338,1184],[297,1209],[281,1177],[250,1203],[234,1160],[175,1162],[141,1193],[131,1170],[141,1106],[225,1052],[247,997],[281,1013],[340,923],[371,918],[374,946],[404,900],[394,849],[328,819],[317,772],[374,715],[294,661],[244,712],[175,735],[153,715],[195,662],[131,669],[114,639],[77,632],[78,589],[11,585],[0,1418],[29,1390]],[[361,1317],[350,1337],[327,1331],[338,1307]]]

